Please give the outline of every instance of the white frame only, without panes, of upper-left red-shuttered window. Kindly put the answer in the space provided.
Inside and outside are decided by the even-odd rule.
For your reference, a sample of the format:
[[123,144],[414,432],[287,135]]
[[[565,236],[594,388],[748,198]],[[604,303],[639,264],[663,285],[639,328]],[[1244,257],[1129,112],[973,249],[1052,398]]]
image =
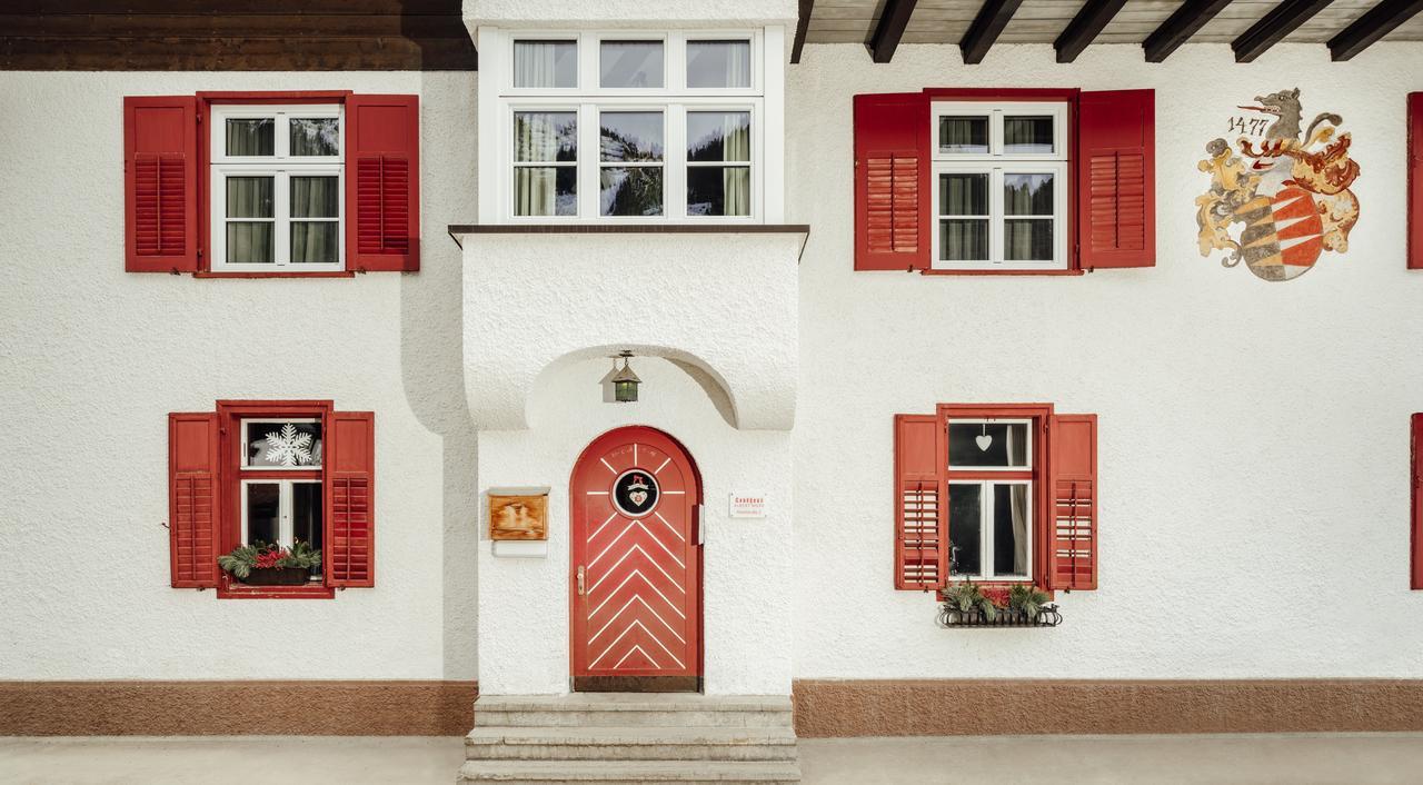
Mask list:
[[[228,155],[228,119],[273,121],[273,155]],[[290,155],[290,118],[336,118],[340,124],[336,155]],[[212,107],[209,129],[209,235],[211,270],[215,273],[332,273],[346,270],[346,121],[340,104],[219,104]],[[292,176],[336,176],[336,219],[292,219]],[[228,262],[228,188],[229,176],[272,178],[270,263],[240,265]],[[236,219],[268,220],[268,219]],[[293,263],[292,223],[336,223],[336,262]]]

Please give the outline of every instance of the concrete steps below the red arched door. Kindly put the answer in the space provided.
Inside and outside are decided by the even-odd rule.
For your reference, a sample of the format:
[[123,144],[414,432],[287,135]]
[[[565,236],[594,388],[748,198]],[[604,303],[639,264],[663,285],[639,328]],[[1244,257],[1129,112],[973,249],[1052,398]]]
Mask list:
[[800,782],[784,695],[480,695],[458,782]]

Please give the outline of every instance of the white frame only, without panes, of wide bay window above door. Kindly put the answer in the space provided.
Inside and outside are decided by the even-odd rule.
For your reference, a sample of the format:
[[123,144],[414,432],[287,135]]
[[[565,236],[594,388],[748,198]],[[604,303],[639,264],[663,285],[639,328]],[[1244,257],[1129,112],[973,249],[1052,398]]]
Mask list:
[[[481,119],[487,131],[481,138],[481,169],[498,172],[497,181],[481,183],[481,192],[492,201],[481,199],[481,215],[492,209],[492,220],[499,223],[763,223],[778,220],[783,212],[780,196],[780,162],[768,175],[768,139],[776,139],[774,155],[781,151],[784,127],[780,61],[767,51],[780,46],[781,28],[647,31],[647,30],[482,30],[481,51],[494,67],[481,74],[481,82],[492,84],[490,95],[481,91]],[[515,41],[578,41],[579,74],[576,88],[515,88]],[[603,88],[599,84],[601,43],[659,40],[663,41],[662,88]],[[751,48],[751,81],[744,88],[686,87],[687,41],[744,40]],[[778,50],[777,50],[778,57]],[[774,71],[774,74],[771,73]],[[488,80],[488,81],[487,81]],[[773,92],[767,92],[771,90]],[[773,110],[768,110],[773,107]],[[514,202],[514,114],[524,111],[564,111],[578,114],[578,215],[519,216]],[[660,111],[663,112],[663,210],[660,216],[603,216],[599,213],[599,173],[603,169],[599,149],[598,117],[603,111]],[[751,115],[750,182],[751,206],[746,216],[687,215],[687,151],[686,124],[689,111],[740,111]],[[492,125],[492,129],[491,129]],[[773,137],[774,135],[774,137]],[[487,165],[492,164],[492,166]],[[741,162],[733,162],[741,165]]]

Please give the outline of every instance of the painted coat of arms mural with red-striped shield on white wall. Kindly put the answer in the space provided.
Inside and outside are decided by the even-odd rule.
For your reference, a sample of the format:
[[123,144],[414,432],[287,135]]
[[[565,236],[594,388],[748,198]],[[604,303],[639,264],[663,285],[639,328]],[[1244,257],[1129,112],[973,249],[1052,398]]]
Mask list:
[[1291,280],[1325,252],[1349,250],[1359,199],[1349,186],[1359,164],[1349,158],[1343,119],[1322,112],[1301,128],[1299,88],[1257,95],[1247,115],[1231,118],[1237,148],[1224,138],[1205,145],[1197,168],[1211,189],[1197,196],[1201,256],[1225,250],[1221,265],[1245,260],[1265,280]]

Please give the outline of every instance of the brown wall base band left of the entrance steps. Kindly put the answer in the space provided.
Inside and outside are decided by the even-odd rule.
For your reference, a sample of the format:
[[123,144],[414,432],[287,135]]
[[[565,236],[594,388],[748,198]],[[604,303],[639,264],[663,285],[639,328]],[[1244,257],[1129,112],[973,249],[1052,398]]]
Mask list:
[[0,681],[0,735],[464,735],[475,681]]

